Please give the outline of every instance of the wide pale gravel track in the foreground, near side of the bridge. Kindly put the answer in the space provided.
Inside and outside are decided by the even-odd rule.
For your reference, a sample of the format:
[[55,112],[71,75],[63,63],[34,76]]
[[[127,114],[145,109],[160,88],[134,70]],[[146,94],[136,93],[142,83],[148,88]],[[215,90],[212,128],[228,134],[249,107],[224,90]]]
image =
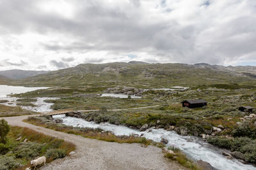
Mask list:
[[77,146],[74,155],[54,160],[41,169],[184,169],[163,157],[160,148],[138,144],[119,144],[83,138],[22,122],[28,116],[4,118],[10,125],[28,127],[38,132],[65,139]]

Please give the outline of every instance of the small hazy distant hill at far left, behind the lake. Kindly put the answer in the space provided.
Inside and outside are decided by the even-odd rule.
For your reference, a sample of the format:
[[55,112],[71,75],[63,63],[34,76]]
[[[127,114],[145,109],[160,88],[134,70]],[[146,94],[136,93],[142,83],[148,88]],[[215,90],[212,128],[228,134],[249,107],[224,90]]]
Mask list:
[[45,74],[49,71],[31,71],[31,70],[20,70],[20,69],[11,69],[6,71],[0,71],[0,75],[6,76],[10,79],[20,79],[27,78],[31,76],[36,76],[38,74]]

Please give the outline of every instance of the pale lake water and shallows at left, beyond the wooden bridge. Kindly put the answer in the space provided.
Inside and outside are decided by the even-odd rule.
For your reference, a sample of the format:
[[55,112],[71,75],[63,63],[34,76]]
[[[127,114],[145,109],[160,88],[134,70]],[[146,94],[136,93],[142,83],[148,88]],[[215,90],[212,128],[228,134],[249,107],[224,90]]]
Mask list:
[[[17,87],[17,86],[8,86],[0,85],[0,100],[7,100],[4,104],[6,106],[17,106],[18,97],[10,97],[8,94],[20,94],[25,92],[31,92],[39,89],[48,89],[49,87]],[[57,97],[36,97],[37,101],[31,102],[35,104],[35,107],[32,106],[20,106],[23,109],[37,111],[37,112],[47,112],[52,111],[51,106],[53,103],[45,103],[46,99],[58,99]]]

